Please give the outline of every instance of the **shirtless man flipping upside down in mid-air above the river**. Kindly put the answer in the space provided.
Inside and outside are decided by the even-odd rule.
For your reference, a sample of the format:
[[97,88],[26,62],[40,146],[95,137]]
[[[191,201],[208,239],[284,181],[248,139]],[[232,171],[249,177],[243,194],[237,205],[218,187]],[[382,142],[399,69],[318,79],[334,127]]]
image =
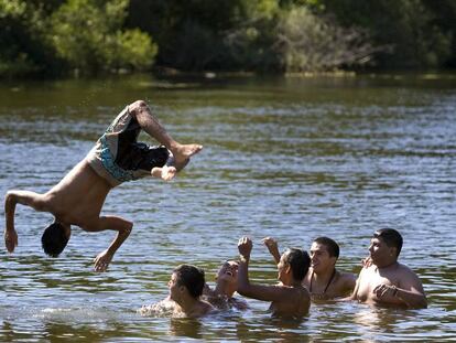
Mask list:
[[[148,147],[137,142],[141,129],[163,146]],[[54,215],[54,223],[45,228],[42,236],[44,251],[53,257],[57,257],[65,248],[70,225],[87,232],[116,231],[117,236],[111,245],[94,261],[96,271],[105,271],[133,227],[133,223],[121,217],[100,216],[109,191],[122,182],[146,175],[169,181],[202,148],[199,144],[175,141],[144,101],[138,100],[127,106],[87,157],[50,191],[44,194],[18,190],[7,193],[4,243],[8,251],[13,253],[18,246],[14,212],[15,205],[22,204]]]

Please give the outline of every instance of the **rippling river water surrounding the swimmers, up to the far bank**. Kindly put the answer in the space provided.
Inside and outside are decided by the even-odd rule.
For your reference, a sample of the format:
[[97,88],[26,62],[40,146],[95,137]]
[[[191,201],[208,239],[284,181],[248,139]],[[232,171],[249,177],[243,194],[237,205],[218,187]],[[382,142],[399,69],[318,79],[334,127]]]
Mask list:
[[[203,152],[171,183],[110,193],[102,213],[134,228],[105,274],[91,261],[113,233],[75,227],[48,258],[40,238],[52,216],[18,205],[19,246],[0,249],[0,341],[455,340],[455,75],[3,82],[0,193],[47,191],[135,99]],[[253,239],[251,280],[272,285],[264,236],[306,249],[329,236],[341,248],[338,268],[358,272],[383,226],[403,235],[400,261],[423,281],[427,309],[323,302],[298,323],[272,320],[256,300],[247,312],[200,320],[135,312],[166,297],[178,264],[203,267],[214,285],[242,235]]]

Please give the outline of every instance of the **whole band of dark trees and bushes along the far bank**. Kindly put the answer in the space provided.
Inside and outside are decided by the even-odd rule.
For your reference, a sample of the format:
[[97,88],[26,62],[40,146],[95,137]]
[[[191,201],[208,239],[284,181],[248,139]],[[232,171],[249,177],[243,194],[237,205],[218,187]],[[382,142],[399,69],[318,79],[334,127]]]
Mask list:
[[0,0],[0,76],[456,66],[454,0]]

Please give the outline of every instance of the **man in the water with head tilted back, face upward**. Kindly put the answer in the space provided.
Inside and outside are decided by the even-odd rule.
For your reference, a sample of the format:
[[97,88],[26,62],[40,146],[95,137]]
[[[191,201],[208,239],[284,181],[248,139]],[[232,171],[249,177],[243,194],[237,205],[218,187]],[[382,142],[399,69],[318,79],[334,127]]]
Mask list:
[[238,290],[238,261],[225,261],[217,272],[215,289],[210,289],[207,283],[204,288],[205,299],[220,310],[247,310],[249,308],[243,299],[234,297]]

